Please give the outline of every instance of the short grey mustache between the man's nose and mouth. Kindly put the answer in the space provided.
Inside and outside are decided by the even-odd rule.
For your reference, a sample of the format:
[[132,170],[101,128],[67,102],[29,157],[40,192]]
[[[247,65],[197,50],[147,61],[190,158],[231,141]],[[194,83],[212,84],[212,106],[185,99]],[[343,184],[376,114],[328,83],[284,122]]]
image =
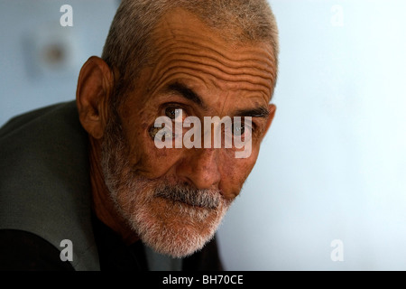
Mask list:
[[154,197],[180,201],[194,207],[216,209],[221,200],[221,194],[215,190],[197,190],[184,186],[165,185],[154,193]]

